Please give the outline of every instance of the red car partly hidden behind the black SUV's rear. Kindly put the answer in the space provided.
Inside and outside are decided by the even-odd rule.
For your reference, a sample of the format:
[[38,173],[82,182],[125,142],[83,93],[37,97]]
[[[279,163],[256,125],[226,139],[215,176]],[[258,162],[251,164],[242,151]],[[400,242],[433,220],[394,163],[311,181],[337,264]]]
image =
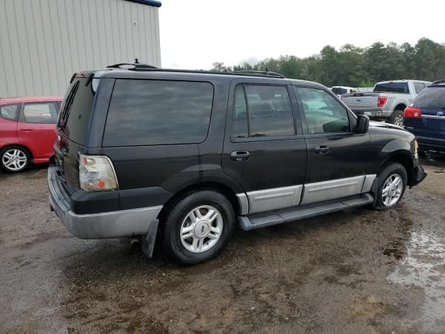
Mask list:
[[48,162],[62,97],[0,99],[0,167],[19,172]]

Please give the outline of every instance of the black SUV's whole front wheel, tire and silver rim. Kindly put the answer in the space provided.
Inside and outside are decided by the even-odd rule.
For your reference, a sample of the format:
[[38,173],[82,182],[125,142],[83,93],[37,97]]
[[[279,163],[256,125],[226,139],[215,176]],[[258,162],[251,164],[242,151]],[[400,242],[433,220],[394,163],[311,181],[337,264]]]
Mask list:
[[378,210],[395,207],[401,201],[407,184],[407,173],[401,164],[387,165],[378,175],[377,198],[373,207]]

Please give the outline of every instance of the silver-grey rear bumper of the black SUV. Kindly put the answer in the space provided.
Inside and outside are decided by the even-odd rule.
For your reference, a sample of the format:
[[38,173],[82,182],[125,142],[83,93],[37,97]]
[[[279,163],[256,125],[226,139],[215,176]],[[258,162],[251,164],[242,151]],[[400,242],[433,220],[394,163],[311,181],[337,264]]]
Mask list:
[[[98,214],[75,214],[70,210],[70,195],[56,175],[48,168],[49,203],[65,228],[81,239],[107,239],[145,235],[158,224],[162,205]],[[155,229],[156,233],[156,229]]]

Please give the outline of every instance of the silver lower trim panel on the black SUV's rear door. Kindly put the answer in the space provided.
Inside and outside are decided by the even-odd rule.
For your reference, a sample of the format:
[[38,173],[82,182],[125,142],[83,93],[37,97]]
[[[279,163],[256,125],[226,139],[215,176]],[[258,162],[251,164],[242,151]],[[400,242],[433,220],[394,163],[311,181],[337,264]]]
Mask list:
[[298,185],[249,191],[249,214],[296,206],[300,203],[302,188]]

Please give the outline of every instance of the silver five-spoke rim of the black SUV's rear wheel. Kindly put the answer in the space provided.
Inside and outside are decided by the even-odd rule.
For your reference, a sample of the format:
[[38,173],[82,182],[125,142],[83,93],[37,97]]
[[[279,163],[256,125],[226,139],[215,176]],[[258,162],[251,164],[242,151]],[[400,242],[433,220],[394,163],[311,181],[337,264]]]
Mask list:
[[203,253],[216,245],[223,232],[223,216],[210,205],[195,207],[181,224],[181,242],[193,253]]

